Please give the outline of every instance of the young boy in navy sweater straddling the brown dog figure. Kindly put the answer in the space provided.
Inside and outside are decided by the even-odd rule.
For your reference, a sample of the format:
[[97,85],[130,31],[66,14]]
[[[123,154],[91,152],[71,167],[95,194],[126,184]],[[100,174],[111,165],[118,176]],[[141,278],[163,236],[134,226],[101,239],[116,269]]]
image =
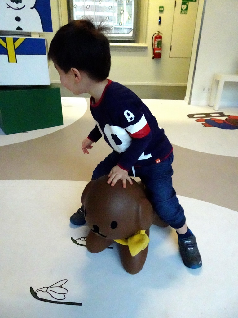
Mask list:
[[[102,136],[113,149],[97,165],[92,179],[107,174],[111,186],[121,179],[125,188],[126,180],[132,184],[130,176],[140,177],[155,212],[175,228],[185,266],[201,267],[196,238],[187,227],[172,186],[172,145],[142,100],[125,86],[107,79],[111,56],[109,41],[103,34],[106,30],[89,20],[74,20],[57,31],[48,54],[63,86],[75,95],[91,95],[90,109],[96,126],[83,140],[83,153],[89,154],[88,149]],[[85,223],[83,207],[70,221]]]

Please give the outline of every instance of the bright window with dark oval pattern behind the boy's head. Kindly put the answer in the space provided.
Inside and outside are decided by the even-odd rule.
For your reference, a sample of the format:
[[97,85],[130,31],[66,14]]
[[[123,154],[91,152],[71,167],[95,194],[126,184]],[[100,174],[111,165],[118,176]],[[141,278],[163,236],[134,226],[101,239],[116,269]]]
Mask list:
[[136,42],[136,0],[68,0],[69,20],[104,21],[110,42]]

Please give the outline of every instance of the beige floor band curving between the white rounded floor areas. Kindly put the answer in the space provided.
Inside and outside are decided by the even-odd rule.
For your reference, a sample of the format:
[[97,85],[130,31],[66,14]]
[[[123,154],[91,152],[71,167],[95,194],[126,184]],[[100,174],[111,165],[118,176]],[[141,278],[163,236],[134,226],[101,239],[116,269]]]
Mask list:
[[[89,98],[86,100],[89,103]],[[168,101],[168,107],[169,103],[172,105],[174,101]],[[234,111],[237,112],[237,109],[234,108]],[[0,180],[89,181],[96,164],[111,151],[100,139],[89,155],[83,154],[82,140],[93,127],[88,108],[82,118],[54,133],[0,147]],[[214,140],[214,131],[221,131],[224,143],[229,143],[229,140],[226,141],[226,131],[219,128],[204,129],[210,134],[208,138]],[[234,131],[236,143],[237,131]],[[197,134],[197,130],[194,134]],[[214,142],[218,144],[217,147],[220,147],[219,142]],[[173,182],[177,194],[238,211],[238,158],[213,155],[175,144],[173,146]],[[230,143],[230,147],[233,148],[234,144]]]

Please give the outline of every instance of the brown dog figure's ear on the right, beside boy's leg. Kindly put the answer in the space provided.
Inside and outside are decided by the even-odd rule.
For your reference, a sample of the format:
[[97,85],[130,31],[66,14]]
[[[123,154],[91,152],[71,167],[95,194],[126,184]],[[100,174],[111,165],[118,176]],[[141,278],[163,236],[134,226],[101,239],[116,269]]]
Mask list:
[[143,198],[139,203],[138,218],[142,230],[147,230],[153,223],[153,208],[149,200]]

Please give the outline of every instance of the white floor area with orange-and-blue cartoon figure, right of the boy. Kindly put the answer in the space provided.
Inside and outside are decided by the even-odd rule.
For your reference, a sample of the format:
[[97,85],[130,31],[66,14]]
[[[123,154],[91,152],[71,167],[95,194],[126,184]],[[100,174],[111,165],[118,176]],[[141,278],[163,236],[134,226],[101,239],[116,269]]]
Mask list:
[[238,107],[224,107],[215,112],[210,106],[192,106],[184,100],[143,102],[171,143],[208,154],[238,156]]

